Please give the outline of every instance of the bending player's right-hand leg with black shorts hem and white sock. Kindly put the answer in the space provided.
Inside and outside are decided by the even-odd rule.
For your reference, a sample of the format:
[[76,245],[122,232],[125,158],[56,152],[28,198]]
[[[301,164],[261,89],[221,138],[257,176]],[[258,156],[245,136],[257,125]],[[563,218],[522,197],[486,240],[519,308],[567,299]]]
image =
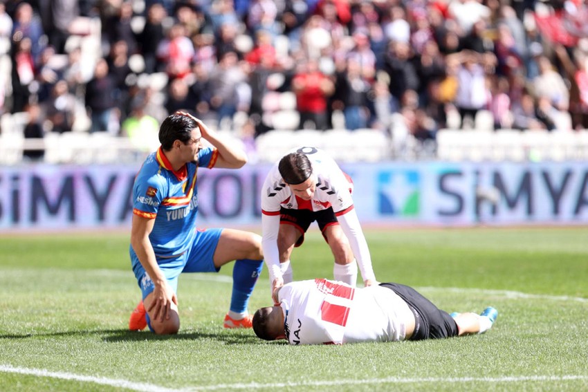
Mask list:
[[335,264],[333,265],[333,277],[351,286],[357,284],[358,268],[349,240],[339,225],[333,209],[325,209],[315,212],[318,227],[325,241],[329,244]]

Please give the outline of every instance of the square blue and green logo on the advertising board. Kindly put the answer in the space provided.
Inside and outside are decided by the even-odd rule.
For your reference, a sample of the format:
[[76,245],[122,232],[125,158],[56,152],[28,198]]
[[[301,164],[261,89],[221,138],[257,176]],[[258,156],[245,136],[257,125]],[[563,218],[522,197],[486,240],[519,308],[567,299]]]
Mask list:
[[421,210],[419,171],[380,171],[378,174],[378,212],[392,216],[419,216]]

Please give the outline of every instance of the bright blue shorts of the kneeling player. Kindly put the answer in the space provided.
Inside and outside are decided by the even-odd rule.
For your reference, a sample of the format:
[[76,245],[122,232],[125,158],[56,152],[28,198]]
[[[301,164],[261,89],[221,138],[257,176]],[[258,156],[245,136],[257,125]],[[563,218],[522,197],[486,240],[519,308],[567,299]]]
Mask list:
[[[212,258],[222,232],[223,229],[196,230],[194,242],[185,252],[175,257],[157,258],[157,264],[174,292],[178,292],[178,277],[182,272],[219,272],[221,270],[214,267]],[[130,254],[133,272],[143,294],[142,298],[145,299],[155,287],[132,247]]]

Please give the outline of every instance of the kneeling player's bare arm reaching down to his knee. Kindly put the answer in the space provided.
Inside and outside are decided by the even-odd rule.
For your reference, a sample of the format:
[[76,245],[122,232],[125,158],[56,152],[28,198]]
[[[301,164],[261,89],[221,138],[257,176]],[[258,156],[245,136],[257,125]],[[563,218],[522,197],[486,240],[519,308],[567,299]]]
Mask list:
[[159,317],[160,321],[163,321],[164,319],[169,319],[172,301],[177,305],[178,299],[174,290],[167,285],[167,279],[165,279],[165,275],[157,264],[153,246],[151,246],[151,241],[149,241],[149,234],[153,230],[154,223],[154,218],[145,218],[133,214],[131,246],[155,286],[152,293],[153,301],[151,301],[147,311],[151,312],[151,310],[154,310],[154,319]]

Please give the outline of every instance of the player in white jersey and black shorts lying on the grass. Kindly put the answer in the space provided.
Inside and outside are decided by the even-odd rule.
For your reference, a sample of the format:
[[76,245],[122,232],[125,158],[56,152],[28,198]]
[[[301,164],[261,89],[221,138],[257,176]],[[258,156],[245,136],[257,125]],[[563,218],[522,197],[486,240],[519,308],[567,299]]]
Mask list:
[[290,344],[440,339],[484,333],[498,316],[491,307],[481,315],[448,315],[414,288],[398,283],[353,288],[314,279],[288,283],[277,295],[279,306],[255,312],[253,330],[261,339]]

